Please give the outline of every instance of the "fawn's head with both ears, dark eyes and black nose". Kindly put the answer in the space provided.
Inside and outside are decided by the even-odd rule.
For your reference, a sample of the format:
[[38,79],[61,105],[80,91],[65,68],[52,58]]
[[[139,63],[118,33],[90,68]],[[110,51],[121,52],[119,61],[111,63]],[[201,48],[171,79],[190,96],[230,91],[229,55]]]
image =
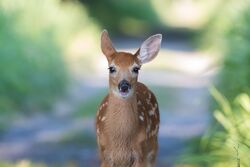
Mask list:
[[108,32],[101,34],[101,49],[109,65],[110,93],[120,98],[134,95],[139,70],[142,64],[153,60],[161,47],[162,35],[156,34],[145,40],[135,54],[117,52]]

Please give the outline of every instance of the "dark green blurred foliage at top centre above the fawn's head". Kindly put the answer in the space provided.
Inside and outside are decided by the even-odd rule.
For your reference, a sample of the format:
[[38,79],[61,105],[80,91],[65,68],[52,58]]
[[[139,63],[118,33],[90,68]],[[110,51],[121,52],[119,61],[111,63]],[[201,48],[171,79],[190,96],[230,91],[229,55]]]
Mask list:
[[79,0],[90,16],[113,33],[140,36],[162,27],[150,0]]

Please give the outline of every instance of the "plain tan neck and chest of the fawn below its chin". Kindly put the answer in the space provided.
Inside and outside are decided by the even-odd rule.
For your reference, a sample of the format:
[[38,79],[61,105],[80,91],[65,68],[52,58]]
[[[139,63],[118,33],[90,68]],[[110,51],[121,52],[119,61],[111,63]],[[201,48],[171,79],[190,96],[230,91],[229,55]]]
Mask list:
[[136,95],[127,99],[109,93],[106,130],[113,141],[123,143],[132,138],[139,125]]

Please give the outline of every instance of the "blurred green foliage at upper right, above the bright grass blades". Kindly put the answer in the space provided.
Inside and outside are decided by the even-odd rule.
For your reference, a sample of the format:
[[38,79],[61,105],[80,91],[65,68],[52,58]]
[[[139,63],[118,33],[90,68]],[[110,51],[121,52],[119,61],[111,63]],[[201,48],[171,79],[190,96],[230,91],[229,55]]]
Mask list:
[[204,44],[223,55],[216,85],[232,102],[239,93],[250,94],[250,5],[245,0],[222,2]]

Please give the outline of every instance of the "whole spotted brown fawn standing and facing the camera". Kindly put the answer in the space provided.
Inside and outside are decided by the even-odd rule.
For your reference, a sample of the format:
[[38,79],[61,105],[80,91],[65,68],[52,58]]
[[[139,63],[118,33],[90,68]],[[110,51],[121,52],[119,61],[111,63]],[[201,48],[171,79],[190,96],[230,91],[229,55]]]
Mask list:
[[101,167],[153,167],[158,149],[160,115],[154,94],[138,82],[142,64],[161,47],[162,35],[143,42],[135,54],[117,52],[104,30],[101,50],[109,65],[109,93],[96,115]]

